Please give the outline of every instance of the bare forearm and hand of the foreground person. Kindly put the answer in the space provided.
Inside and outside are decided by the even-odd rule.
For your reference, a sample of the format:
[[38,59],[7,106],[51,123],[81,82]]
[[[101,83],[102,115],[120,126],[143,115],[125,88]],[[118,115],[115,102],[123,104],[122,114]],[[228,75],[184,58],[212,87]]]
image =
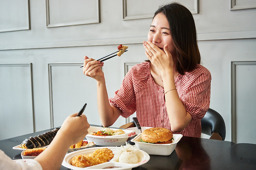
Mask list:
[[68,148],[88,134],[90,124],[87,122],[86,116],[76,117],[76,115],[77,113],[72,114],[65,119],[47,149],[34,158],[41,164],[43,170],[60,169]]

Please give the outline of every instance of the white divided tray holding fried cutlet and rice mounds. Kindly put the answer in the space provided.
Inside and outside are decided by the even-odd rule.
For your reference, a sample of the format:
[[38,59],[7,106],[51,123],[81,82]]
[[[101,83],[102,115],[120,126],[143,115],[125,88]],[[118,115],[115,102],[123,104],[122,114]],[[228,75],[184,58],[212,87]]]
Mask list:
[[65,155],[62,165],[65,166],[66,168],[73,169],[73,170],[85,170],[85,169],[102,170],[110,166],[119,167],[119,168],[111,168],[111,170],[131,170],[132,168],[135,168],[137,166],[147,163],[150,159],[150,156],[146,152],[141,151],[143,153],[143,158],[141,162],[137,164],[127,164],[127,163],[116,162],[113,159],[110,160],[109,162],[105,162],[105,163],[94,165],[94,166],[89,166],[86,168],[78,168],[70,164],[70,160],[74,156],[90,154],[90,153],[93,153],[96,149],[101,149],[101,148],[108,148],[108,149],[111,149],[113,152],[115,152],[120,147],[94,147],[94,148],[87,148],[87,149],[82,149],[80,151],[71,152]]

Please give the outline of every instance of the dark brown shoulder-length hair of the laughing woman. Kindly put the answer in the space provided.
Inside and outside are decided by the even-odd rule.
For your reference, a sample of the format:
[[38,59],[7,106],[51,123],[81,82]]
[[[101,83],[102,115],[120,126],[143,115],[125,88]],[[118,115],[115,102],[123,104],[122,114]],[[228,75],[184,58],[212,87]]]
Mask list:
[[164,14],[167,18],[176,48],[176,71],[184,75],[185,72],[192,71],[201,62],[196,25],[192,13],[177,2],[160,6],[154,17],[158,13]]

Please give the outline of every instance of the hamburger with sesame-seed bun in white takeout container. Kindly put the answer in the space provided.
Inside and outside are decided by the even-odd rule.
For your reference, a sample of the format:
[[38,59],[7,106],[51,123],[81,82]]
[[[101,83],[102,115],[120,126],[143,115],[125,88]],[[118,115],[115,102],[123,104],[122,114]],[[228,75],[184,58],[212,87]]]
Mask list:
[[142,132],[141,142],[154,144],[169,144],[174,140],[172,131],[165,128],[149,128]]

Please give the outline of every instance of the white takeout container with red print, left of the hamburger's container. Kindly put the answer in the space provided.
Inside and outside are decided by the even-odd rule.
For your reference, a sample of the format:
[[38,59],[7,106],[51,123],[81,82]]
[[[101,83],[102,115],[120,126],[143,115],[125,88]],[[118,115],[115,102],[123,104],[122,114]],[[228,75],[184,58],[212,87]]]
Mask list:
[[[128,140],[129,137],[132,137],[136,135],[134,130],[126,130],[122,129],[124,131],[124,134],[122,135],[113,135],[113,136],[95,136],[90,135],[90,132],[96,132],[98,130],[102,130],[102,127],[96,127],[96,126],[90,126],[88,129],[88,133],[85,137],[88,141],[92,141],[96,143],[97,146],[121,146],[125,145],[125,142]],[[110,128],[112,130],[117,130]]]

